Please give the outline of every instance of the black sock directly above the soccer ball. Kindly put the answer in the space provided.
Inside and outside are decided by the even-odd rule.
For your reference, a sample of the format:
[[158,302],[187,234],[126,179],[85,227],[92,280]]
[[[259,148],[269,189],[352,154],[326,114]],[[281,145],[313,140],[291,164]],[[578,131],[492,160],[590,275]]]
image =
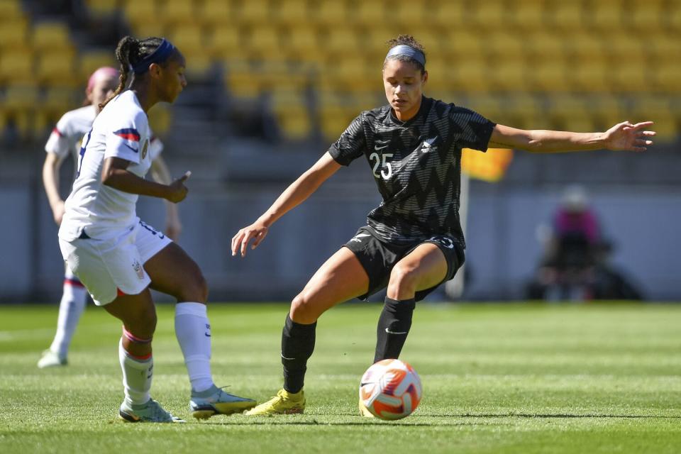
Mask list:
[[398,358],[411,328],[411,314],[416,307],[414,298],[398,301],[385,298],[383,311],[376,328],[376,353],[374,362]]

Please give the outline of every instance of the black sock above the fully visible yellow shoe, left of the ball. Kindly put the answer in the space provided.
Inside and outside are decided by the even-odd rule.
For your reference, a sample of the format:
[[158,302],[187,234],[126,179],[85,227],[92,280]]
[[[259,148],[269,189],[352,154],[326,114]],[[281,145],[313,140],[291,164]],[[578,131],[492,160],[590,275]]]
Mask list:
[[282,331],[282,365],[284,365],[284,389],[299,392],[303,389],[307,360],[314,351],[314,333],[317,322],[303,325],[286,316]]

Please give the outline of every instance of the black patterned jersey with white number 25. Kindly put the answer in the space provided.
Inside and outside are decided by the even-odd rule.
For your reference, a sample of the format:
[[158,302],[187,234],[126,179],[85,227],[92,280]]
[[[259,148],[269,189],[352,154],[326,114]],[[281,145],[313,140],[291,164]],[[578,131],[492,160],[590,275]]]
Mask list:
[[380,237],[402,243],[447,235],[463,249],[461,149],[487,151],[494,126],[474,111],[423,97],[409,121],[390,106],[362,112],[328,153],[341,165],[366,157],[383,197],[367,223]]

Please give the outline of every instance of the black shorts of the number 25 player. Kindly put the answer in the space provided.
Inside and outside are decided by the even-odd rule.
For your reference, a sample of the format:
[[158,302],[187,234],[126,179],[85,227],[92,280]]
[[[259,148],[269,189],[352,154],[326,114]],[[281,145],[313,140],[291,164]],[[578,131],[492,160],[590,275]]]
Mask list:
[[[447,260],[447,275],[442,279],[446,282],[456,274],[463,265],[463,250],[448,236],[438,235],[427,240],[414,240],[412,243],[395,244],[382,240],[369,226],[361,227],[355,236],[345,243],[345,248],[350,249],[357,256],[369,276],[369,291],[359,299],[367,299],[372,294],[380,292],[388,285],[390,272],[397,262],[416,249],[423,243],[433,243],[445,255]],[[416,301],[421,301],[426,295],[433,292],[440,284],[416,292]]]

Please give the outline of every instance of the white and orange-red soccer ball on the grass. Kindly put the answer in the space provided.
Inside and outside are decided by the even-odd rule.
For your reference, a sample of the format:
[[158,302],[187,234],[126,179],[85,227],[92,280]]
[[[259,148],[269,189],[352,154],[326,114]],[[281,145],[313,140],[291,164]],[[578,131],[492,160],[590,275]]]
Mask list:
[[380,419],[402,419],[421,402],[421,379],[400,360],[381,360],[362,375],[360,402]]

